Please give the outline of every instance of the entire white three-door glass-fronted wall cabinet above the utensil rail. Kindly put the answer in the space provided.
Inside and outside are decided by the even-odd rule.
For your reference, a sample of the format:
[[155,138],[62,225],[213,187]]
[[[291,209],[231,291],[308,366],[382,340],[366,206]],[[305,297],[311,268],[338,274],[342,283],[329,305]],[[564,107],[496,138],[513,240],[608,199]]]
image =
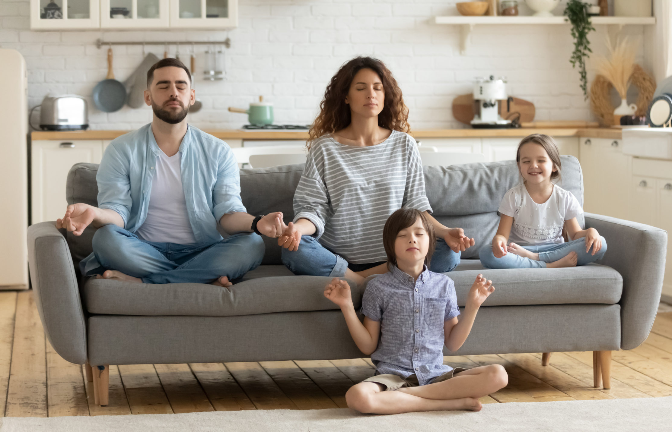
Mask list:
[[33,30],[238,26],[238,0],[30,0]]

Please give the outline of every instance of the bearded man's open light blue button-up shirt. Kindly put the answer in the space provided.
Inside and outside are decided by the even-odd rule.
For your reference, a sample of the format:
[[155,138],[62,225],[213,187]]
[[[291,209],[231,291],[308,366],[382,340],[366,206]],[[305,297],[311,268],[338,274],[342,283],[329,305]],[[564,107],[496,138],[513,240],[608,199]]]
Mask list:
[[[124,229],[136,232],[145,218],[157,158],[161,154],[152,124],[112,141],[98,167],[98,207],[117,212]],[[217,224],[224,214],[245,212],[238,164],[222,140],[187,125],[179,146],[187,215],[200,245],[222,240]],[[91,260],[91,254],[85,261]],[[95,261],[95,259],[93,259]],[[91,263],[95,265],[97,263]],[[91,269],[87,264],[87,269]]]

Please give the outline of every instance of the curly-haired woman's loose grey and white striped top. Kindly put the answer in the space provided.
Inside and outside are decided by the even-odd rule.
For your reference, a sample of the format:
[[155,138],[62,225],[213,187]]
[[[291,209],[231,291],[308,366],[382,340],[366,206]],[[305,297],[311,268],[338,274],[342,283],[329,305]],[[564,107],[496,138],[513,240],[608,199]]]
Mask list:
[[294,222],[305,218],[313,236],[348,263],[386,261],[382,228],[402,207],[431,212],[415,140],[404,132],[374,146],[312,142],[294,193]]

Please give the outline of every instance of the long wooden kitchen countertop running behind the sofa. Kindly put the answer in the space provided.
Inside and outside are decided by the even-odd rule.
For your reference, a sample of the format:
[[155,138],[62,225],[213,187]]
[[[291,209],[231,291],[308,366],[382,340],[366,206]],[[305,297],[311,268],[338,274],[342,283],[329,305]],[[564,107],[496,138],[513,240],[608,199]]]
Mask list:
[[[34,140],[114,140],[128,130],[78,130],[75,132],[32,132]],[[305,140],[308,132],[278,130],[205,130],[222,140]],[[585,136],[620,140],[617,128],[518,128],[518,129],[418,129],[412,130],[415,138],[523,138],[529,134],[550,136]]]

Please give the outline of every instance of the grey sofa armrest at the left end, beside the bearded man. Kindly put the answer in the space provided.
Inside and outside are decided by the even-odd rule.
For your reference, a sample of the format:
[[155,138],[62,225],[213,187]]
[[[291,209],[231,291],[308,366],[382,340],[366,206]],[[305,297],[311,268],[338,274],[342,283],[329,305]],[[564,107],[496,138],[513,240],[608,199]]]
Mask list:
[[71,363],[87,359],[86,322],[73,259],[55,222],[28,227],[28,265],[44,333]]

